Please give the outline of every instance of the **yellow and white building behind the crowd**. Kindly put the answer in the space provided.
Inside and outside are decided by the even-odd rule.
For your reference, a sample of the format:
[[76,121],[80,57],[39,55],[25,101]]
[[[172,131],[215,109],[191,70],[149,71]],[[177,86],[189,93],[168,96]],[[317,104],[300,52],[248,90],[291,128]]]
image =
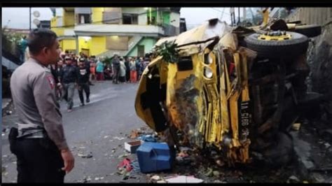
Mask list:
[[159,38],[176,36],[180,8],[51,8],[63,51],[144,56]]

